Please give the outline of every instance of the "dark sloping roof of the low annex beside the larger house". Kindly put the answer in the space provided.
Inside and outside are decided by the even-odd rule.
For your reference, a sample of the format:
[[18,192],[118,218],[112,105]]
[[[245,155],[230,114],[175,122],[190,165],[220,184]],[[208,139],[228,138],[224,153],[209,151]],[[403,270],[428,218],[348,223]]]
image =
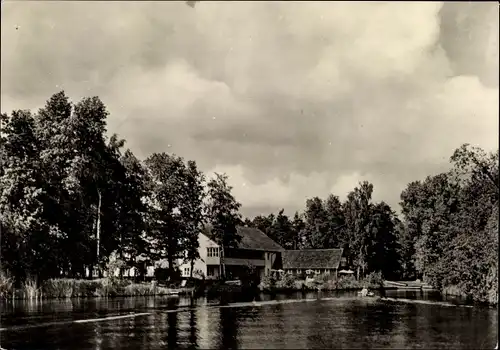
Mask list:
[[284,269],[338,269],[343,249],[286,250]]

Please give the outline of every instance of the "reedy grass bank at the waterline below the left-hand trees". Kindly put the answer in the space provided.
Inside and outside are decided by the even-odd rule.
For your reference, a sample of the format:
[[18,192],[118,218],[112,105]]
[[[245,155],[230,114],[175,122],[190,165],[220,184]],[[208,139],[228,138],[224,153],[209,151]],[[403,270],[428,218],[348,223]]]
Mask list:
[[128,296],[160,296],[189,294],[192,288],[169,288],[155,283],[132,283],[122,279],[98,280],[50,279],[38,285],[28,280],[15,289],[12,281],[2,278],[0,297],[3,299],[69,299],[112,298]]

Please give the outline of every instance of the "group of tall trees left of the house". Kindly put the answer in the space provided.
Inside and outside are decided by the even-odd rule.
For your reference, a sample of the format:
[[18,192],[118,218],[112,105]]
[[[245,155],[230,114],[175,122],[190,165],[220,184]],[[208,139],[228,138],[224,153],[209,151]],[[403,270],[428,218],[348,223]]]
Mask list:
[[218,241],[238,239],[239,203],[225,175],[207,181],[173,154],[138,160],[106,136],[107,116],[99,98],[73,104],[64,92],[37,113],[2,114],[1,262],[18,282],[83,277],[111,255],[139,271],[166,259],[172,270],[198,257],[205,224]]

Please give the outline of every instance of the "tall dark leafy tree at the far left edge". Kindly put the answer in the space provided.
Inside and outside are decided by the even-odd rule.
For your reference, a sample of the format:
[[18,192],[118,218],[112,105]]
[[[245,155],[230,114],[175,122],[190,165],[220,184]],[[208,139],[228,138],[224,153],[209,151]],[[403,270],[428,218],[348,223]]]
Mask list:
[[21,110],[2,119],[2,265],[20,282],[27,275],[47,276],[56,269],[56,249],[50,250],[55,229],[43,212],[45,190],[35,120],[29,111]]

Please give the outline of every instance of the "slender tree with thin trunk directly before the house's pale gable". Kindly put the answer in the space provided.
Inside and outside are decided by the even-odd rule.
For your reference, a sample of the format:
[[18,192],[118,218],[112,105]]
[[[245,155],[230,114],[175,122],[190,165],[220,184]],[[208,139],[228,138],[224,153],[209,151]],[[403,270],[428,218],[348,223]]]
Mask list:
[[241,222],[238,203],[231,194],[232,187],[227,183],[225,174],[215,174],[208,184],[208,201],[206,205],[206,218],[211,226],[211,234],[216,243],[221,247],[222,277],[225,277],[223,263],[224,248],[235,247],[241,240],[238,235],[237,225]]

